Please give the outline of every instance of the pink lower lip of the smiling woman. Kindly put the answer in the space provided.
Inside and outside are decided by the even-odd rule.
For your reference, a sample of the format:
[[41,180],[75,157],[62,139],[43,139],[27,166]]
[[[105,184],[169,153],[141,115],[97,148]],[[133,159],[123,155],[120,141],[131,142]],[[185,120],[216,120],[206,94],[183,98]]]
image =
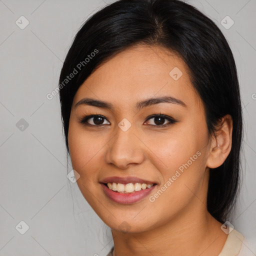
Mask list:
[[141,189],[139,191],[134,191],[132,193],[119,193],[116,191],[113,191],[111,189],[109,189],[106,185],[104,185],[103,183],[100,183],[104,193],[113,201],[118,202],[118,203],[123,203],[123,204],[127,204],[127,203],[134,203],[137,202],[139,200],[141,200],[142,198],[146,197],[153,189],[156,185],[153,185],[149,188],[146,189]]

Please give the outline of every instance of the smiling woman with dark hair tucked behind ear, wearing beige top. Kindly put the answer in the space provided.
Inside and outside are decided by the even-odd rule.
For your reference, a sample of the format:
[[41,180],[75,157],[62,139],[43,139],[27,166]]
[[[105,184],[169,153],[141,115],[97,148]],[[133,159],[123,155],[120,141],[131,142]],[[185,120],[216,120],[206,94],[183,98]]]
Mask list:
[[217,26],[178,0],[119,0],[92,15],[59,95],[78,187],[111,228],[108,255],[238,255],[226,222],[239,184],[236,67]]

